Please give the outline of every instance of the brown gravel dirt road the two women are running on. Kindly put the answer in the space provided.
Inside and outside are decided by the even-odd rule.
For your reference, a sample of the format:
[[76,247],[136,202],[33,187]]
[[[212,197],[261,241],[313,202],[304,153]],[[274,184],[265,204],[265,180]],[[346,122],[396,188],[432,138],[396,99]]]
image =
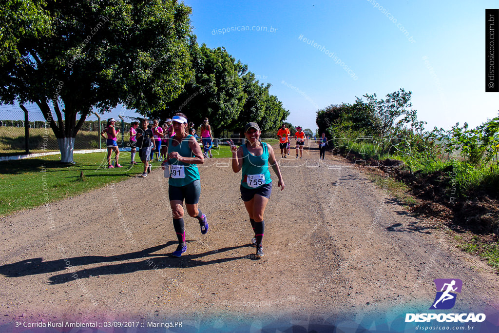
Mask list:
[[425,312],[436,278],[463,280],[455,310],[497,312],[498,275],[445,229],[408,215],[352,164],[319,161],[314,149],[293,155],[279,162],[284,191],[271,171],[259,260],[229,159],[200,168],[210,229],[201,235],[187,216],[179,259],[169,256],[177,241],[161,169],[2,218],[1,323],[211,319],[216,328]]

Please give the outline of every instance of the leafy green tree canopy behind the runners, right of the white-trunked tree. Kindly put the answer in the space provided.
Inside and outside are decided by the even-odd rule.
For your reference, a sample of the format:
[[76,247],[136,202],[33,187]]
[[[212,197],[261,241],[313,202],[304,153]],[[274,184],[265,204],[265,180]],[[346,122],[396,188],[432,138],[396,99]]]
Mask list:
[[240,131],[250,121],[265,131],[289,115],[277,97],[269,94],[270,84],[255,80],[248,65],[236,61],[225,48],[210,49],[205,44],[199,47],[196,36],[191,36],[190,52],[193,79],[164,110],[147,115],[167,118],[181,110],[195,124],[208,117],[216,137],[224,129]]

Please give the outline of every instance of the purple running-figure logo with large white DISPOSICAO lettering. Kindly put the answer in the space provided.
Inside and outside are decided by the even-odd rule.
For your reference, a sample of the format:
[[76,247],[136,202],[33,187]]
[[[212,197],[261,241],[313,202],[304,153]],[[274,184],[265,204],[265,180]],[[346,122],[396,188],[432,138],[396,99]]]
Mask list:
[[[456,305],[457,293],[461,293],[463,281],[460,279],[435,279],[437,295],[429,310],[449,310]],[[481,323],[485,321],[485,314],[406,314],[407,322],[460,322],[460,323]]]

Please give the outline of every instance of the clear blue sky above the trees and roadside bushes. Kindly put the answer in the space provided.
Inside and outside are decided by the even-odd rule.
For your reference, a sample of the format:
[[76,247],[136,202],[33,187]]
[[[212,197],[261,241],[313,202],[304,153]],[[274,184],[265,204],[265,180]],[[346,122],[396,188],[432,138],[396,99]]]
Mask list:
[[[427,129],[477,126],[498,113],[499,95],[485,93],[484,76],[485,8],[497,1],[184,2],[193,9],[198,42],[225,46],[260,82],[271,83],[294,125],[315,129],[317,107],[366,93],[381,98],[400,87],[412,91]],[[250,31],[237,31],[242,26]],[[231,27],[236,31],[218,33]]]

